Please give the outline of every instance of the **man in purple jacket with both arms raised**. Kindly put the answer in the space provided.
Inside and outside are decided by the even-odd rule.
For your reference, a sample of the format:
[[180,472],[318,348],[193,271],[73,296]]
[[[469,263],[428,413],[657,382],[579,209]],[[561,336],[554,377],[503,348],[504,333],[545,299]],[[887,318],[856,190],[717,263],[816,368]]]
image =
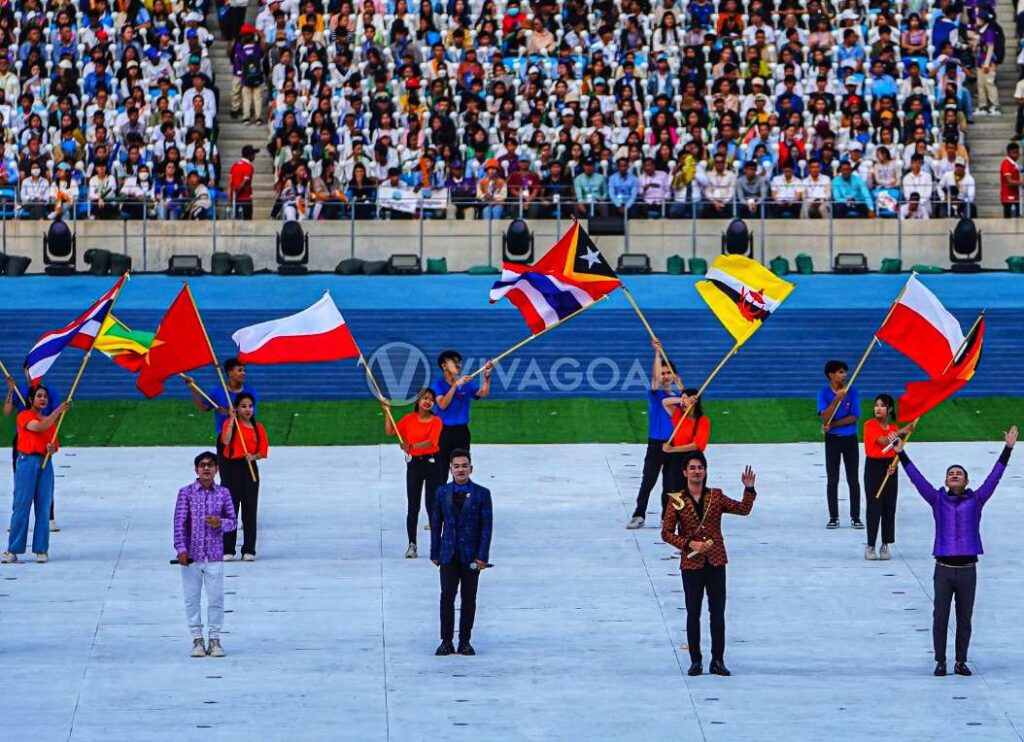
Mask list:
[[949,605],[956,597],[956,661],[953,672],[971,674],[967,650],[971,643],[971,615],[978,583],[978,555],[981,548],[981,511],[995,493],[995,486],[1007,470],[1010,452],[1017,442],[1017,426],[1006,433],[1006,447],[982,485],[968,487],[967,470],[958,464],[946,469],[946,486],[936,489],[910,462],[899,441],[899,452],[910,483],[932,507],[935,519],[935,609],[932,613],[932,643],[935,646],[935,674],[946,674],[946,634],[949,629]]

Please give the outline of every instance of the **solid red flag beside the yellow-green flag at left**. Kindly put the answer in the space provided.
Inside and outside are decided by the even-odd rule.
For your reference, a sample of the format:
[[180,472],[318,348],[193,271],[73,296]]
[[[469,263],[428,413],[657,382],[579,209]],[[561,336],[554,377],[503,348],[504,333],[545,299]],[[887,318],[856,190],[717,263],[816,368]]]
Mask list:
[[206,328],[185,286],[160,320],[135,387],[145,396],[156,397],[163,393],[169,377],[216,362]]

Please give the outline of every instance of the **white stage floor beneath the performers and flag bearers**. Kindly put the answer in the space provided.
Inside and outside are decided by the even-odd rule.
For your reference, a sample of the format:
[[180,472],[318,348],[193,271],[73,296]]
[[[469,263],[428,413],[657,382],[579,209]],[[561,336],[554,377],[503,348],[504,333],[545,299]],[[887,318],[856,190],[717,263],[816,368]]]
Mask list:
[[[980,482],[1001,443],[913,444]],[[818,444],[715,446],[726,661],[690,679],[678,559],[625,529],[641,446],[478,446],[495,501],[476,657],[433,656],[435,568],[406,560],[397,448],[278,448],[259,561],[225,565],[225,659],[191,659],[171,520],[198,449],[58,456],[46,565],[0,566],[2,737],[30,740],[1020,740],[1024,462],[985,511],[970,679],[933,678],[930,512],[901,475],[890,562],[826,531]],[[4,493],[6,497],[6,492]],[[6,507],[6,506],[5,506]],[[424,516],[421,515],[421,528]],[[241,541],[240,541],[241,543]],[[31,544],[31,540],[30,540]],[[29,555],[31,559],[31,555]],[[205,610],[204,610],[205,616]],[[710,658],[707,613],[703,655]],[[950,632],[950,660],[952,659]],[[706,667],[707,669],[707,667]]]

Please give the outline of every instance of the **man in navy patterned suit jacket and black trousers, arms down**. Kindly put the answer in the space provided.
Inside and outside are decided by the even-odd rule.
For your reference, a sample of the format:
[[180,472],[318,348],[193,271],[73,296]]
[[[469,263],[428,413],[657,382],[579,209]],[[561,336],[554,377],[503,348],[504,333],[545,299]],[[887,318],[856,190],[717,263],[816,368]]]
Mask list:
[[[469,643],[476,617],[476,587],[480,571],[487,567],[493,513],[490,490],[471,482],[473,464],[469,451],[452,451],[452,480],[437,488],[430,517],[430,561],[441,574],[441,644],[434,652],[441,657],[458,651],[474,655]],[[459,617],[459,649],[455,638],[455,596],[462,593]]]

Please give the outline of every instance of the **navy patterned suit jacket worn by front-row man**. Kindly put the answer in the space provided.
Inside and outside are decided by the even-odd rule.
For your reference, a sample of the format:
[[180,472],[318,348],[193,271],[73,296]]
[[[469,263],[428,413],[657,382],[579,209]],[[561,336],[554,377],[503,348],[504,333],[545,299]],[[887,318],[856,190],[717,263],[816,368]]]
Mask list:
[[456,516],[452,493],[455,482],[437,488],[434,512],[430,516],[430,559],[449,564],[457,558],[463,564],[487,561],[494,515],[490,490],[470,481],[462,512]]

